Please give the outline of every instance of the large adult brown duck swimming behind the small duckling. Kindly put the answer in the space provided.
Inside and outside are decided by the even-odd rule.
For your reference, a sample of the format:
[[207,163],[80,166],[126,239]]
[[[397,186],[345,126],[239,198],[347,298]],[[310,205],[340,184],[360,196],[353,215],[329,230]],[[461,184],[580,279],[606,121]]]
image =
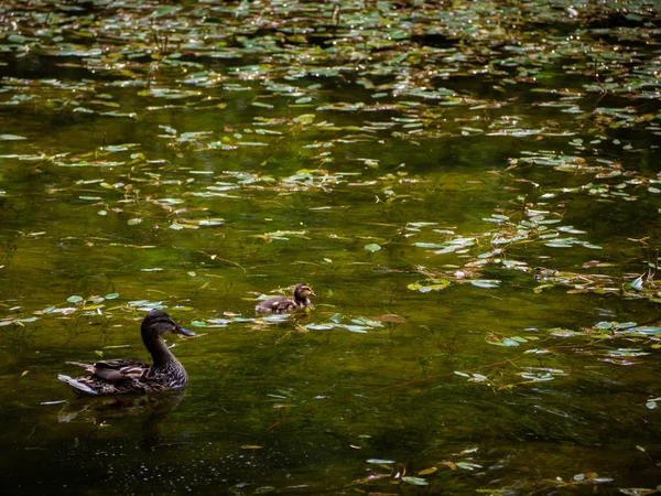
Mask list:
[[57,378],[74,388],[76,393],[87,396],[145,395],[181,389],[188,384],[188,375],[161,338],[171,333],[195,336],[194,332],[176,324],[165,312],[152,310],[142,321],[140,334],[153,365],[123,358],[95,364],[67,362],[68,365],[83,367],[88,375],[74,379],[59,374]]

